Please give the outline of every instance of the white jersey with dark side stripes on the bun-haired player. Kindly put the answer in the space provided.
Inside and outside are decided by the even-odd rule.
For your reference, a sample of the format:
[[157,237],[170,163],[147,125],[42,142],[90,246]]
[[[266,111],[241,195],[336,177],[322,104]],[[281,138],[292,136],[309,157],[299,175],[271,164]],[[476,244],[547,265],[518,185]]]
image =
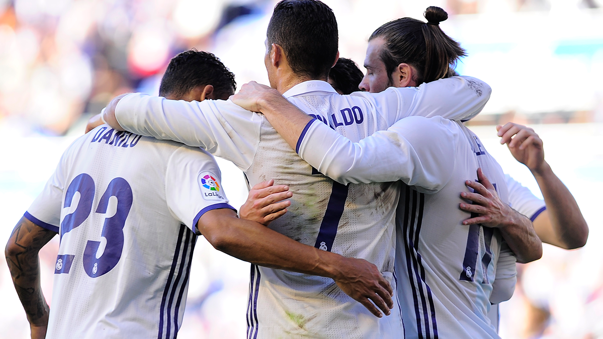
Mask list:
[[463,225],[470,215],[459,203],[478,167],[502,201],[508,192],[500,166],[471,131],[441,117],[413,116],[353,143],[314,120],[298,144],[303,159],[341,183],[404,182],[396,277],[406,337],[498,337],[487,313],[491,298],[513,293],[515,258],[496,230]]

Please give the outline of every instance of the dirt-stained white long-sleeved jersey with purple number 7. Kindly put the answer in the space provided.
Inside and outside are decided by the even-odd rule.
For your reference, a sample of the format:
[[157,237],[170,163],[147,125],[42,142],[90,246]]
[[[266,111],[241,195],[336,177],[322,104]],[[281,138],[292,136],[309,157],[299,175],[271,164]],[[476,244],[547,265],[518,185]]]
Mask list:
[[[353,141],[408,115],[464,118],[481,110],[490,88],[473,78],[418,88],[339,95],[325,81],[305,81],[283,94],[304,112]],[[394,212],[399,183],[341,185],[303,161],[262,115],[231,101],[186,103],[128,95],[116,108],[127,130],[200,146],[235,163],[250,185],[267,179],[293,192],[287,214],[270,224],[292,239],[364,258],[395,288]],[[399,309],[377,318],[332,279],[251,267],[249,338],[391,338],[402,333]]]

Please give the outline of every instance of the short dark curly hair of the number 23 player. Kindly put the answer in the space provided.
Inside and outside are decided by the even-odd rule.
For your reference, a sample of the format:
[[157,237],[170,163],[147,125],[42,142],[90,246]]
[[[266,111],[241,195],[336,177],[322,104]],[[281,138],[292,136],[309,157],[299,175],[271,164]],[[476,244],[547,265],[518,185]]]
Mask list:
[[159,95],[181,96],[197,86],[213,86],[216,98],[225,98],[235,93],[235,75],[212,53],[197,51],[182,52],[169,62],[159,86]]

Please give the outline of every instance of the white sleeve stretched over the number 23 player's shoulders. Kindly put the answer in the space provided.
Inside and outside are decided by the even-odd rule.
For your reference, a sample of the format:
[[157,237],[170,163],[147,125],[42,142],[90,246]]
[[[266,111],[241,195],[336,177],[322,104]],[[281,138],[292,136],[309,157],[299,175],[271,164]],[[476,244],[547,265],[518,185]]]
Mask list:
[[142,93],[123,97],[115,118],[127,131],[204,148],[242,171],[251,166],[264,119],[230,100],[188,102]]

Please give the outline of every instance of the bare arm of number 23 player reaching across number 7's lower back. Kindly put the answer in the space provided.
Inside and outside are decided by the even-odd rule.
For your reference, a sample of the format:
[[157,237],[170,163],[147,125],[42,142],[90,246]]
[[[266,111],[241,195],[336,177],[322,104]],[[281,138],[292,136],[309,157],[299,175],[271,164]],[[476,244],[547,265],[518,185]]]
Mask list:
[[262,224],[242,220],[231,209],[214,209],[199,219],[197,229],[215,249],[265,267],[330,277],[350,297],[377,317],[393,307],[393,291],[377,267],[364,259],[346,258],[301,244]]

